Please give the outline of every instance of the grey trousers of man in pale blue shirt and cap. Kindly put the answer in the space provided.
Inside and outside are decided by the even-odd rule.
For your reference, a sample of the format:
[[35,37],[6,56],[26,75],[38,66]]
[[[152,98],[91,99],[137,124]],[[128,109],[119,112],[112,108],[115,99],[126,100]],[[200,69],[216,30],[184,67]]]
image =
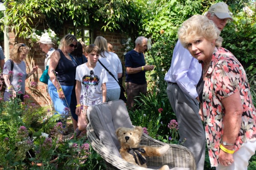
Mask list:
[[183,93],[177,83],[168,83],[167,96],[177,117],[180,140],[189,148],[195,158],[196,169],[204,170],[205,133],[198,114],[199,103]]

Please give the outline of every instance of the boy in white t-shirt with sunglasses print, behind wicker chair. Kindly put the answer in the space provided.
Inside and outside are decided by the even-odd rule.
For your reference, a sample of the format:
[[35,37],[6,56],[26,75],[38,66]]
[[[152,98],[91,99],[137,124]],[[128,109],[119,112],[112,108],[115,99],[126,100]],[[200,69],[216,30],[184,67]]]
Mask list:
[[85,56],[88,61],[76,68],[76,114],[79,130],[85,130],[87,126],[87,107],[106,102],[108,77],[106,70],[97,65],[99,53],[97,45],[87,45]]

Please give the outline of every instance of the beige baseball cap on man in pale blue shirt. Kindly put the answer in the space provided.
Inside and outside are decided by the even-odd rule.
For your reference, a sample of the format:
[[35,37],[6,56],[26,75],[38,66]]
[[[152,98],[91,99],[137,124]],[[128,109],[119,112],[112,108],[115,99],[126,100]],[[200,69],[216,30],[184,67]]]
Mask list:
[[228,10],[228,6],[224,2],[213,4],[208,12],[213,12],[220,19],[228,18],[233,21],[232,13]]

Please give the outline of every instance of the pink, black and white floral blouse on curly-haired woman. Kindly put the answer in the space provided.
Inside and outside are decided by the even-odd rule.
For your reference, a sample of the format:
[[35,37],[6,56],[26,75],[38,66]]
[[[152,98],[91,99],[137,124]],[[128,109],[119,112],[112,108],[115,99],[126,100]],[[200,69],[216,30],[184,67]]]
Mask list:
[[240,91],[244,111],[239,136],[234,145],[236,151],[244,142],[256,140],[256,110],[244,68],[230,51],[215,48],[203,90],[205,134],[212,167],[218,166],[219,146],[223,134],[225,108],[221,99],[237,91]]

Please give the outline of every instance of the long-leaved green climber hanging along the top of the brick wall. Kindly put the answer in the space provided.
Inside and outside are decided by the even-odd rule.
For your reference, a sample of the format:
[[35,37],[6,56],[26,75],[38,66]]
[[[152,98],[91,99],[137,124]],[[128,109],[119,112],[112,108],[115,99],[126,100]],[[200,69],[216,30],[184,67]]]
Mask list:
[[[137,34],[145,18],[146,6],[135,0],[6,0],[7,25],[15,35],[32,31],[32,25],[44,24],[57,33],[64,23],[89,26],[106,31],[119,30]],[[3,26],[2,26],[3,29]]]

